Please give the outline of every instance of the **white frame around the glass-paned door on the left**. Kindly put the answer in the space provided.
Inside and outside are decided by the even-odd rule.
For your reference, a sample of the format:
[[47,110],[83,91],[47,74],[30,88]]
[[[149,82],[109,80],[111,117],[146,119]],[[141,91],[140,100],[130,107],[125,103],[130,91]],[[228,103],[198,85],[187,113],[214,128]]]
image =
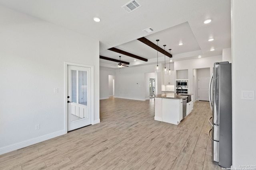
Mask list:
[[72,66],[80,66],[80,67],[88,67],[91,68],[91,123],[92,125],[94,125],[94,66],[91,65],[86,65],[86,64],[78,64],[78,63],[70,63],[70,62],[64,62],[65,64],[65,68],[64,68],[64,74],[65,74],[65,83],[64,83],[64,129],[66,131],[66,133],[68,133],[68,119],[67,119],[67,115],[68,115],[68,110],[67,110],[67,104],[68,104],[68,98],[67,98],[67,92],[68,92],[68,87],[67,87],[67,81],[68,81],[68,74],[67,74],[67,68],[68,65],[72,65]]

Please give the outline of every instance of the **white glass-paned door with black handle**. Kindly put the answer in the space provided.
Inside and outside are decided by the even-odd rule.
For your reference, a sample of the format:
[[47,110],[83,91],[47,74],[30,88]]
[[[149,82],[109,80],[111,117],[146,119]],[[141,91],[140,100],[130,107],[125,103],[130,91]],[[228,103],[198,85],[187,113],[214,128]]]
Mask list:
[[68,131],[91,124],[91,68],[67,66]]

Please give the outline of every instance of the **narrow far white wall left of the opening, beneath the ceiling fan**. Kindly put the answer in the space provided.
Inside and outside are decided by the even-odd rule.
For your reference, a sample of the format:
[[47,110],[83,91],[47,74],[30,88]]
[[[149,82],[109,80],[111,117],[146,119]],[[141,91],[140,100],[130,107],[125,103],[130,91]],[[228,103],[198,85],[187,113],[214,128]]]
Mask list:
[[115,75],[116,71],[113,68],[100,67],[100,100],[108,99],[109,97],[109,82],[108,75]]

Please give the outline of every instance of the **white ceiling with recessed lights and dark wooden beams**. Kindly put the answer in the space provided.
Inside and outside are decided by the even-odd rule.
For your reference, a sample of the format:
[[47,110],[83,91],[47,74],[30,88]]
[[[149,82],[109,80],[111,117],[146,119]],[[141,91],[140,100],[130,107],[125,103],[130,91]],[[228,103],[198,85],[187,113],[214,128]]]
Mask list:
[[[159,39],[159,47],[172,49],[173,61],[222,55],[222,49],[231,47],[230,0],[136,1],[141,8],[131,13],[121,8],[129,0],[0,0],[0,4],[98,39],[100,55],[118,60],[122,56],[121,60],[130,62],[130,66],[156,63],[156,50],[136,40],[140,37],[155,44]],[[101,21],[94,22],[95,16]],[[208,18],[212,22],[204,24]],[[154,31],[142,31],[148,27]],[[183,45],[178,45],[180,42]],[[132,57],[109,51],[111,47],[148,62],[134,62]],[[158,56],[160,62],[164,61],[161,53]],[[103,59],[100,65],[117,68],[116,62]]]

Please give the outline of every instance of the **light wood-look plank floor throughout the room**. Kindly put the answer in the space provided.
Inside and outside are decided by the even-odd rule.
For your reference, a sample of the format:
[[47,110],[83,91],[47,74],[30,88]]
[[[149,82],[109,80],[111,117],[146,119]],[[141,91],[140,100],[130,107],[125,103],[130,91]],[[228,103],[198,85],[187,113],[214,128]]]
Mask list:
[[172,125],[154,120],[154,99],[100,100],[100,123],[2,154],[0,169],[221,170],[212,162],[210,114],[197,101]]

